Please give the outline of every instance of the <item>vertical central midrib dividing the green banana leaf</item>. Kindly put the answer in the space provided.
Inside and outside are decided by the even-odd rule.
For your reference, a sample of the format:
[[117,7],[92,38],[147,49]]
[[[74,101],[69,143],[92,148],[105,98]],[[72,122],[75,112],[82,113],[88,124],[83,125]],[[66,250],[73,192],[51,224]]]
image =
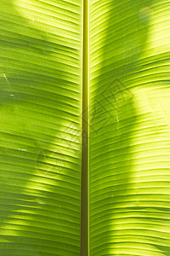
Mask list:
[[82,32],[82,205],[81,255],[88,256],[88,0],[83,0]]

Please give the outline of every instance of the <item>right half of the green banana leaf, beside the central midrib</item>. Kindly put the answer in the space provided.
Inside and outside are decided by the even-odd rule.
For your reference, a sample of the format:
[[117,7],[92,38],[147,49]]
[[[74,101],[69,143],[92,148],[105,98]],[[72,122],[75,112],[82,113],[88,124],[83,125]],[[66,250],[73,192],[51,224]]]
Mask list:
[[169,255],[169,1],[90,2],[90,255]]

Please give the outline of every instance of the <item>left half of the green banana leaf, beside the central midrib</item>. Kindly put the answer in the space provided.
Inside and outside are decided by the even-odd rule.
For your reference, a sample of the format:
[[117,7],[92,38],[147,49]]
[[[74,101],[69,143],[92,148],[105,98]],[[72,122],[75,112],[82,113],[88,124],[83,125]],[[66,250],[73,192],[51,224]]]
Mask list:
[[82,5],[0,2],[0,254],[79,255]]

